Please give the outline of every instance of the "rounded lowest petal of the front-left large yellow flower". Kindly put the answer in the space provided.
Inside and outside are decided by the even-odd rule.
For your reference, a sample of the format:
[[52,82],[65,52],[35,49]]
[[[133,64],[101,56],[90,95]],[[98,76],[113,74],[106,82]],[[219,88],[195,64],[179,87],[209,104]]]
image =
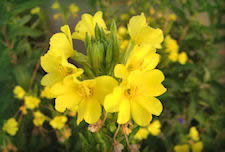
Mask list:
[[93,124],[96,123],[101,116],[102,108],[100,103],[96,99],[89,99],[86,104],[86,111],[84,114],[84,120]]

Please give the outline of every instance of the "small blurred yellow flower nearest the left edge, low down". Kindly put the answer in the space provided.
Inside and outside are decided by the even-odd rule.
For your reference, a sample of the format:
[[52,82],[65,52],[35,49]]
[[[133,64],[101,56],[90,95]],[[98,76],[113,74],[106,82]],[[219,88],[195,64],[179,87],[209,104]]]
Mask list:
[[7,122],[4,123],[2,129],[11,136],[16,135],[16,132],[18,131],[18,123],[16,119],[15,118],[8,119]]

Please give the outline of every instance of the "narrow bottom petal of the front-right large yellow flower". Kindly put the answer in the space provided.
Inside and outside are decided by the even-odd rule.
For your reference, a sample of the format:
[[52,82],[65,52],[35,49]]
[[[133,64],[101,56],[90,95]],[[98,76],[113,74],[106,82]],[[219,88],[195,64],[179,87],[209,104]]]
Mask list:
[[130,101],[127,98],[122,98],[119,106],[118,124],[125,124],[130,120]]

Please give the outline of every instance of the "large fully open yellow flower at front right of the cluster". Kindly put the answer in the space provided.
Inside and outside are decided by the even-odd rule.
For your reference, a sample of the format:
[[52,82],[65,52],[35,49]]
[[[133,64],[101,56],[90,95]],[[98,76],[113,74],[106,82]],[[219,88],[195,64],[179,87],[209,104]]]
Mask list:
[[104,107],[107,112],[119,112],[117,122],[125,124],[130,117],[140,126],[147,126],[152,114],[159,116],[162,104],[156,98],[166,91],[161,84],[164,75],[160,70],[133,71],[127,80],[106,96]]

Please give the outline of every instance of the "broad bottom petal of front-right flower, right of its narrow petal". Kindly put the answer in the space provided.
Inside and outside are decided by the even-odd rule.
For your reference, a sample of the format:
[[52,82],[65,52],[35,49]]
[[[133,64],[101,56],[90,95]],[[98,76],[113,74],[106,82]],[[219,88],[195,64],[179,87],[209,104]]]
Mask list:
[[131,103],[131,115],[133,120],[140,126],[147,126],[152,120],[152,114],[136,102]]

